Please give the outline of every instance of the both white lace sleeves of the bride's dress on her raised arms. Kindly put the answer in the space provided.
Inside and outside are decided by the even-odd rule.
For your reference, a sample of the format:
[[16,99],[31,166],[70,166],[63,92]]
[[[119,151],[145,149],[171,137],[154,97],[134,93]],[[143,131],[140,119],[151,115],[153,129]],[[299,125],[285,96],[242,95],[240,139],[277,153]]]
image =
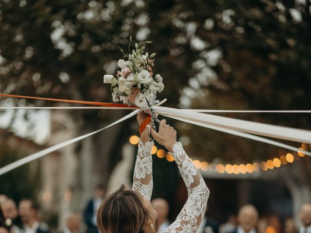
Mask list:
[[[134,169],[133,190],[147,200],[151,199],[153,188],[151,156],[153,144],[139,141]],[[173,145],[172,155],[187,186],[188,200],[165,233],[196,233],[205,214],[209,190],[180,142]]]

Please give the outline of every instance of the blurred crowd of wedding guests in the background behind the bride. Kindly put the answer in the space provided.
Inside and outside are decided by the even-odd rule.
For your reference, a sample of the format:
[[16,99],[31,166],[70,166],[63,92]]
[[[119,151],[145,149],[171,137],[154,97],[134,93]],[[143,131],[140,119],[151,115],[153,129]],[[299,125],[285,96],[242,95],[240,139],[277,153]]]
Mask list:
[[[99,233],[96,226],[97,210],[104,199],[105,189],[98,185],[94,197],[88,201],[82,214],[70,214],[66,227],[61,233]],[[156,198],[151,201],[157,212],[157,233],[164,233],[171,224],[169,203]],[[14,200],[0,195],[0,233],[50,233],[49,226],[42,221],[38,206],[34,200],[23,199],[18,207]],[[262,216],[255,206],[244,205],[238,215],[229,216],[225,223],[208,217],[208,206],[198,233],[311,233],[311,202],[301,206],[299,218],[301,226],[295,225],[293,218],[287,218],[281,224],[277,216]]]

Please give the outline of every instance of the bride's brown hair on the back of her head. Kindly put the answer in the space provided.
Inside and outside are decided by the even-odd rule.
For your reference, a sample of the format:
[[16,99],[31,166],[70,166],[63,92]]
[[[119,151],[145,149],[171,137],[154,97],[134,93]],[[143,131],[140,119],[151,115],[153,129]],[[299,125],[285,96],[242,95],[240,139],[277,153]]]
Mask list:
[[103,200],[97,212],[97,226],[101,233],[139,233],[148,216],[139,194],[122,185]]

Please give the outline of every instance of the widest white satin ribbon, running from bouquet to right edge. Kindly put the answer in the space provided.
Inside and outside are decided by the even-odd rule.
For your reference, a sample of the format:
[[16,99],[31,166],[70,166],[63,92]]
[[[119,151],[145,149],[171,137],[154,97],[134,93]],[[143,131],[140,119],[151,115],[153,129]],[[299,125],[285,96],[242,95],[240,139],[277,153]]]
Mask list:
[[164,113],[177,117],[184,117],[190,120],[198,120],[208,125],[217,126],[220,128],[295,142],[311,143],[311,131],[308,130],[234,119],[225,116],[196,113],[162,106],[153,106],[153,108],[159,114]]

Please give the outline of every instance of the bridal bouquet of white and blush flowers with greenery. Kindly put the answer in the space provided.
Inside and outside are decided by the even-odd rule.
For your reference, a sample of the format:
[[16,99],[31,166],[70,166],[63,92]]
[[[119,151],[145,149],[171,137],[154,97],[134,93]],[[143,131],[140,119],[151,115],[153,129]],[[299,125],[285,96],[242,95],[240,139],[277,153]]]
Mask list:
[[163,90],[164,84],[161,75],[154,75],[154,57],[144,52],[145,47],[141,44],[151,43],[144,41],[135,44],[135,50],[130,52],[132,37],[128,45],[129,53],[122,49],[123,59],[118,61],[118,70],[116,77],[114,75],[104,75],[104,83],[111,84],[112,100],[114,102],[123,101],[125,104],[135,104],[138,107],[146,108],[147,103],[144,95],[149,102],[152,102],[154,95]]

